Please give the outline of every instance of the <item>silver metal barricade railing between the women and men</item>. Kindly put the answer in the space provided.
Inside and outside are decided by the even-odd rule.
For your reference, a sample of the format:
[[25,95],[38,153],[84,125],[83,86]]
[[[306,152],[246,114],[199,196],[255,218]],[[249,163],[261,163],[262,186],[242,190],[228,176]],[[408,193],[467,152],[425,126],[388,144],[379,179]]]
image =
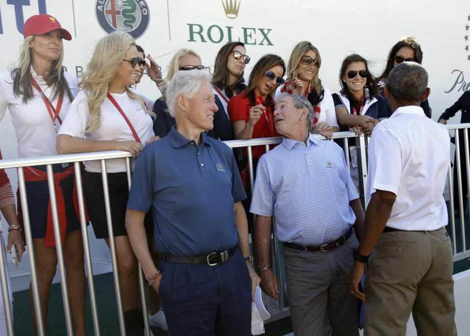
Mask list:
[[[468,145],[468,131],[467,127],[470,127],[470,124],[459,124],[459,125],[447,125],[447,129],[464,129],[463,132],[465,136],[465,158],[467,164],[467,181],[470,181],[470,169],[469,169],[469,145]],[[318,139],[324,140],[325,138],[316,135]],[[359,178],[359,189],[360,189],[360,197],[363,204],[365,204],[365,190],[367,184],[367,140],[364,136],[356,137],[352,132],[336,132],[334,133],[333,139],[344,139],[343,147],[345,152],[345,159],[346,165],[349,168],[349,146],[348,140],[349,138],[356,138],[356,149],[357,149],[357,157],[358,157],[358,170],[360,173]],[[227,141],[227,144],[231,148],[236,147],[247,147],[248,153],[248,171],[249,171],[249,180],[250,180],[250,192],[253,192],[253,185],[254,185],[254,169],[253,169],[253,158],[252,158],[252,146],[264,145],[266,151],[269,151],[269,147],[272,144],[279,144],[282,142],[282,137],[277,138],[263,138],[263,139],[251,139],[251,140],[234,140],[234,141]],[[357,145],[358,144],[358,145]],[[458,137],[456,137],[456,145],[458,148],[459,141]],[[126,158],[126,172],[127,172],[127,181],[130,188],[130,181],[131,181],[131,168],[130,168],[130,158],[131,155],[128,152],[120,151],[120,150],[113,150],[113,151],[103,151],[103,152],[92,152],[92,153],[79,153],[79,154],[65,154],[65,155],[56,155],[56,156],[49,156],[49,157],[38,157],[38,158],[22,158],[22,159],[14,159],[14,160],[0,160],[0,169],[1,168],[17,168],[18,172],[18,184],[20,190],[20,199],[22,205],[22,212],[23,212],[23,220],[25,225],[25,237],[26,243],[30,248],[28,249],[29,253],[29,261],[30,261],[30,273],[31,273],[31,287],[33,293],[33,300],[34,300],[34,309],[36,312],[36,321],[37,321],[37,328],[38,334],[44,335],[44,325],[43,319],[41,316],[41,305],[39,299],[39,290],[38,290],[38,282],[37,282],[37,274],[36,274],[36,267],[35,267],[35,259],[34,253],[31,248],[32,246],[32,236],[30,231],[30,222],[29,222],[29,212],[28,212],[28,203],[26,198],[26,189],[25,189],[25,175],[23,168],[28,166],[38,166],[38,165],[46,165],[47,172],[48,172],[48,181],[49,181],[49,194],[50,200],[52,204],[52,215],[53,215],[53,226],[54,226],[54,234],[56,237],[56,249],[57,249],[57,260],[58,260],[58,267],[59,273],[61,278],[61,289],[62,289],[62,296],[63,296],[63,303],[64,303],[64,312],[66,318],[66,327],[67,327],[67,335],[73,335],[73,327],[72,327],[72,319],[70,314],[70,304],[68,299],[68,292],[67,292],[67,283],[65,281],[65,265],[63,260],[63,252],[62,252],[62,245],[60,239],[60,227],[58,222],[58,215],[57,215],[57,206],[55,203],[55,189],[54,189],[54,182],[53,182],[53,174],[52,174],[52,166],[53,164],[61,164],[61,163],[73,163],[75,168],[75,182],[76,182],[76,190],[78,194],[78,208],[79,208],[79,219],[81,224],[82,230],[82,238],[83,238],[83,247],[85,252],[85,269],[88,278],[88,287],[89,287],[89,295],[90,295],[90,303],[91,303],[91,310],[92,310],[92,317],[94,323],[94,331],[95,335],[100,335],[99,331],[99,313],[97,309],[97,302],[96,302],[96,291],[95,285],[93,281],[93,269],[92,269],[92,259],[91,259],[91,252],[90,252],[90,245],[88,239],[88,231],[87,231],[87,223],[85,219],[85,204],[83,198],[83,185],[81,182],[81,173],[80,173],[80,163],[83,161],[93,161],[93,160],[100,160],[101,164],[101,171],[102,171],[102,183],[103,183],[103,190],[104,190],[104,197],[105,197],[105,210],[106,210],[106,218],[107,218],[107,226],[109,232],[109,247],[111,251],[111,261],[112,261],[112,268],[113,268],[113,277],[115,282],[115,291],[116,291],[116,301],[118,303],[118,318],[119,318],[119,329],[121,335],[125,335],[125,326],[124,326],[124,313],[122,308],[122,298],[121,298],[121,291],[120,291],[120,284],[119,284],[119,273],[118,273],[118,266],[117,266],[117,257],[116,257],[116,246],[114,244],[114,235],[112,229],[112,222],[111,222],[111,212],[110,212],[110,202],[109,202],[109,192],[108,192],[108,181],[106,175],[106,160],[109,159],[116,159],[116,158]],[[460,163],[460,155],[459,151],[456,152],[457,163]],[[461,210],[461,233],[462,233],[462,244],[463,250],[458,252],[456,248],[456,232],[455,232],[455,219],[453,216],[451,217],[451,231],[452,231],[452,241],[454,242],[454,261],[463,259],[470,255],[470,251],[467,252],[466,244],[465,244],[465,225],[464,225],[464,205],[462,202],[462,186],[461,186],[461,172],[460,166],[458,166],[458,181],[459,181],[459,197],[460,197],[460,210]],[[451,179],[451,167],[449,161],[449,198],[450,198],[450,211],[451,214],[454,212],[453,206],[453,194],[452,194],[452,179]],[[273,225],[274,225],[274,221]],[[276,268],[276,276],[277,282],[279,286],[279,312],[272,314],[272,317],[267,322],[271,322],[273,320],[277,320],[279,318],[285,317],[289,315],[289,307],[284,307],[284,295],[282,290],[282,281],[281,281],[281,274],[283,270],[281,269],[281,263],[279,259],[279,248],[278,248],[278,241],[277,238],[273,238],[274,241],[274,264]],[[6,264],[3,260],[3,257],[0,258],[0,280],[1,280],[1,290],[3,294],[3,300],[8,300],[8,288],[5,284],[6,274],[5,269],[2,266]],[[139,265],[139,282],[140,282],[140,291],[142,296],[142,307],[144,312],[144,324],[146,335],[150,335],[150,329],[148,326],[148,315],[147,315],[147,307],[145,301],[145,286],[144,286],[144,277]],[[8,302],[9,304],[9,302]],[[7,305],[5,305],[5,315],[6,316],[6,323],[7,323],[7,330],[8,335],[13,334],[13,324],[12,324],[12,316],[11,311],[7,309]]]

